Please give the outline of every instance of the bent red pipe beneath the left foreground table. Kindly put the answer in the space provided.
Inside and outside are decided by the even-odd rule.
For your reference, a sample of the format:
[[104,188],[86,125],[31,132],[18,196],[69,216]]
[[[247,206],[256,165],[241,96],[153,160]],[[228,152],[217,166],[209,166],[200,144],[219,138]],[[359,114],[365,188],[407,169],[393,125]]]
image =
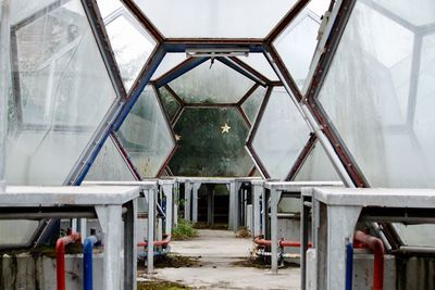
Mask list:
[[65,290],[65,245],[80,240],[79,232],[67,231],[66,237],[55,242],[55,282],[58,290]]

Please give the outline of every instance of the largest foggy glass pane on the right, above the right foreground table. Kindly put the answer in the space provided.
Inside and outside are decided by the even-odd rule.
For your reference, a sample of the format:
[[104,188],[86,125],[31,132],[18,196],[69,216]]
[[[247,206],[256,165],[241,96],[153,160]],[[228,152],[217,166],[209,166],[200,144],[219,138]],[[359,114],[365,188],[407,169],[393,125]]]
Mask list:
[[435,186],[434,43],[363,2],[350,16],[319,100],[373,187]]

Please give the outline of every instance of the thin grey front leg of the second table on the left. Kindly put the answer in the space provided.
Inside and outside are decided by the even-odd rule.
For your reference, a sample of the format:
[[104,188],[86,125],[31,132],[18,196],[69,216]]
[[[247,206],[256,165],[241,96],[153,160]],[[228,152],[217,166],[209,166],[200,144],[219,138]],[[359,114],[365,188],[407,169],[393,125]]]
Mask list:
[[148,247],[147,247],[147,273],[154,272],[154,230],[156,230],[156,189],[148,190]]

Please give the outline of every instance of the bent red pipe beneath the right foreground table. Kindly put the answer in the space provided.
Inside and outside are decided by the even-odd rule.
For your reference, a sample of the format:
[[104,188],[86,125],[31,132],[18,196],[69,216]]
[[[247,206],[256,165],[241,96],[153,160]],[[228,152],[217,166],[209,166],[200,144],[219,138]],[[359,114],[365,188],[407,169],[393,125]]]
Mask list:
[[373,290],[384,289],[384,243],[381,239],[366,235],[361,230],[355,232],[353,239],[362,242],[374,252]]

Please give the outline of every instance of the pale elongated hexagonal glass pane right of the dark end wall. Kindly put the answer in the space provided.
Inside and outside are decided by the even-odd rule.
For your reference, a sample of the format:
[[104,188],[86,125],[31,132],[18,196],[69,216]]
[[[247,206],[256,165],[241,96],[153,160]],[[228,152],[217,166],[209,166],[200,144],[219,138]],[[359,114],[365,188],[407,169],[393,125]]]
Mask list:
[[275,87],[257,119],[251,147],[271,178],[285,179],[310,137],[310,129],[283,87]]

